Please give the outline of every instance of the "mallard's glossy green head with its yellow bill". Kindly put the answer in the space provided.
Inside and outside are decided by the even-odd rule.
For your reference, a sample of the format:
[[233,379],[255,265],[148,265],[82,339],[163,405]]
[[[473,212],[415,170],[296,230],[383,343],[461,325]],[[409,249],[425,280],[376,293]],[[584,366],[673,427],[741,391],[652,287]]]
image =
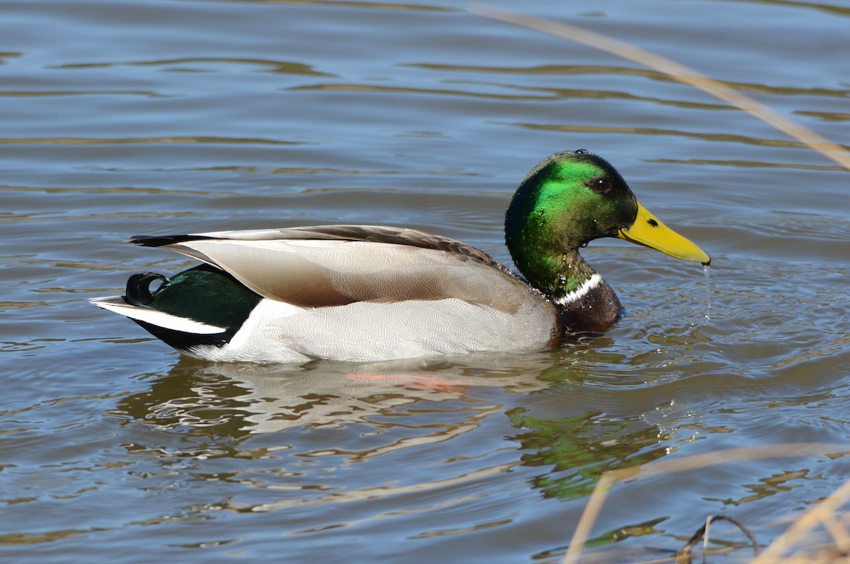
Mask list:
[[517,268],[544,291],[555,284],[553,276],[570,278],[579,247],[600,237],[711,262],[641,206],[608,161],[583,149],[552,155],[525,177],[507,208],[505,237]]

